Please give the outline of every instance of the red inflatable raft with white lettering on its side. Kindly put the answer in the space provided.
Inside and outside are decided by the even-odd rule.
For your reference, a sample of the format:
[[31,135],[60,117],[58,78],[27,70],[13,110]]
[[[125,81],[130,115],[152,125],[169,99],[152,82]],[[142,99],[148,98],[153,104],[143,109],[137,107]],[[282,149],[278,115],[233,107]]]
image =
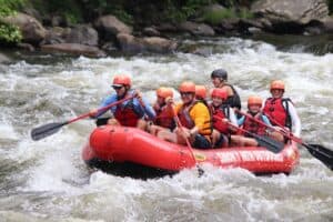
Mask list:
[[[256,174],[290,173],[299,163],[300,154],[294,142],[285,144],[279,153],[261,147],[191,151],[188,147],[159,140],[135,128],[103,125],[90,134],[82,158],[88,165],[110,173],[150,178],[202,163],[242,168]],[[142,175],[143,172],[145,174]]]

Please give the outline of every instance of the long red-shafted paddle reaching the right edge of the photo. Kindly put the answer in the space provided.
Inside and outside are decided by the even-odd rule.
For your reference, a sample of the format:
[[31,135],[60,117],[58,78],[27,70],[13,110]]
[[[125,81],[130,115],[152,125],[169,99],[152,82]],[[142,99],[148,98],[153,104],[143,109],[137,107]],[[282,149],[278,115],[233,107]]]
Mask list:
[[[307,144],[307,143],[304,143],[302,141],[301,138],[297,138],[295,135],[292,134],[292,132],[285,132],[285,131],[280,131],[280,130],[276,130],[274,127],[271,127],[271,125],[268,125],[265,124],[264,122],[253,118],[252,115],[249,115],[248,113],[244,113],[242,111],[239,111],[236,110],[236,112],[239,112],[240,114],[243,114],[254,121],[256,121],[258,123],[260,124],[263,124],[265,125],[266,128],[270,128],[274,131],[278,131],[279,133],[283,134],[284,137],[295,141],[296,143],[300,143],[301,145],[305,147],[306,150],[316,159],[319,159],[320,161],[322,161],[322,163],[324,163],[327,168],[330,168],[331,170],[333,170],[333,151],[323,147],[323,145],[320,145],[320,144]],[[270,120],[276,124],[278,127],[284,129],[284,127],[282,127],[280,123],[278,123],[273,118],[270,118]]]

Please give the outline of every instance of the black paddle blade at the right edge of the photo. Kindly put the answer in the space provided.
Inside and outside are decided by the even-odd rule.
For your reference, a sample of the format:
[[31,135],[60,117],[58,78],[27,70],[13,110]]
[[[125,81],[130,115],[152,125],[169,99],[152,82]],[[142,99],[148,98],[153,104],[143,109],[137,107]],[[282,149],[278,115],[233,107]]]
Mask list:
[[324,148],[320,144],[305,144],[302,143],[307,151],[317,160],[320,160],[322,163],[324,163],[327,168],[333,170],[333,151]]

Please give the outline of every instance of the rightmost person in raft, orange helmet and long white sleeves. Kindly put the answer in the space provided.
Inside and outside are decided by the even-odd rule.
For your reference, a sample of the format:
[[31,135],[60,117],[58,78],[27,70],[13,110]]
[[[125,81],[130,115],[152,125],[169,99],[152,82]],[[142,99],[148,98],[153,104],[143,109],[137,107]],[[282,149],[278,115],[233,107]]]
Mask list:
[[[289,98],[284,98],[284,82],[274,80],[270,84],[272,97],[266,99],[263,113],[270,119],[271,123],[280,130],[287,129],[294,135],[301,137],[301,120],[296,109]],[[281,129],[279,127],[283,127]]]

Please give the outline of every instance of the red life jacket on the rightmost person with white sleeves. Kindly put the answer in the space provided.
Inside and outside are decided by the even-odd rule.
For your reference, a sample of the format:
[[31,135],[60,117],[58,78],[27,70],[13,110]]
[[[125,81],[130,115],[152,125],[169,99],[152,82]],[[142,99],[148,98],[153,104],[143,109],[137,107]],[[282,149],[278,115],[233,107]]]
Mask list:
[[[289,114],[289,101],[291,102],[289,98],[269,98],[265,101],[263,113],[268,115],[273,125],[276,125],[274,122],[278,122],[279,124],[287,127],[291,130],[292,123]],[[285,108],[283,103],[285,103]]]

